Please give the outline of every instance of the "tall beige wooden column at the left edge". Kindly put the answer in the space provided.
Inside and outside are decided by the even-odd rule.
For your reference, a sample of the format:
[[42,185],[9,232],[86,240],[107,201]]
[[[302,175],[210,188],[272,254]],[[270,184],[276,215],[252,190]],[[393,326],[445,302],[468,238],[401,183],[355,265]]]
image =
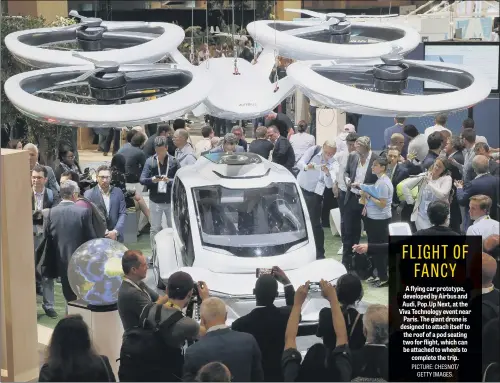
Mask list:
[[38,378],[37,307],[27,151],[1,152],[1,381]]

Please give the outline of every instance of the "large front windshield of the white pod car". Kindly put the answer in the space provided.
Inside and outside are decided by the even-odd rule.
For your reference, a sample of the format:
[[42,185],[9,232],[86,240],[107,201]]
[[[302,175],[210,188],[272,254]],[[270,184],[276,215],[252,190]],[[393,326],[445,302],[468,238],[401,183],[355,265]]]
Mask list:
[[262,257],[284,254],[308,238],[293,183],[253,189],[213,185],[194,188],[193,194],[203,246]]

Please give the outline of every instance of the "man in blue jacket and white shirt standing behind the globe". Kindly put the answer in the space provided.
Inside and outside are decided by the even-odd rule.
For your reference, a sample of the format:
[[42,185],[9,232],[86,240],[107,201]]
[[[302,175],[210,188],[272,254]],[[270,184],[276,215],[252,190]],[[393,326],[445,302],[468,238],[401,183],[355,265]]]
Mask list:
[[127,208],[125,197],[119,188],[111,186],[111,169],[106,165],[97,168],[97,186],[85,192],[85,198],[93,202],[106,217],[108,230],[105,237],[123,242]]

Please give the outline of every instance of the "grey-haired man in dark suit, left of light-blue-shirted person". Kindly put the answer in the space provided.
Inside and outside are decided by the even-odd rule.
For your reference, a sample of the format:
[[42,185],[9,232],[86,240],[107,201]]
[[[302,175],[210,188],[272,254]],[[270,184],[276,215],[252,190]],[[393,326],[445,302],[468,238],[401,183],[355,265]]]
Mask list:
[[372,173],[372,164],[378,156],[371,150],[369,137],[356,140],[355,151],[349,154],[344,179],[347,186],[344,201],[344,226],[342,231],[342,263],[347,270],[352,270],[352,246],[361,238],[361,213],[363,205],[359,203],[359,184],[374,184],[377,175]]

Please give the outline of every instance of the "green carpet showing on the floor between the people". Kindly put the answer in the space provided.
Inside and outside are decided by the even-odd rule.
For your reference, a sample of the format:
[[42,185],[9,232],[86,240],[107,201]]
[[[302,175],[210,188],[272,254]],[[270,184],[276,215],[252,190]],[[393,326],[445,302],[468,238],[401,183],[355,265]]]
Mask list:
[[[336,259],[337,261],[340,262],[342,256],[337,255],[337,251],[341,245],[342,243],[340,241],[340,237],[338,236],[334,237],[330,229],[325,228],[326,257]],[[148,234],[141,235],[138,238],[137,243],[132,243],[129,245],[125,244],[125,246],[129,249],[141,250],[144,253],[144,255],[148,257],[151,255],[151,246],[149,244]],[[364,282],[363,282],[363,288],[364,288],[363,301],[367,303],[380,303],[380,304],[388,303],[389,299],[388,288],[375,288]],[[45,312],[42,309],[42,297],[37,297],[37,302],[38,302],[38,315],[37,315],[38,324],[54,328],[54,326],[57,324],[58,319],[63,318],[65,315],[65,301],[64,301],[64,296],[62,295],[61,285],[59,283],[56,283],[55,285],[55,310],[59,314],[59,318],[51,319],[45,315]]]

